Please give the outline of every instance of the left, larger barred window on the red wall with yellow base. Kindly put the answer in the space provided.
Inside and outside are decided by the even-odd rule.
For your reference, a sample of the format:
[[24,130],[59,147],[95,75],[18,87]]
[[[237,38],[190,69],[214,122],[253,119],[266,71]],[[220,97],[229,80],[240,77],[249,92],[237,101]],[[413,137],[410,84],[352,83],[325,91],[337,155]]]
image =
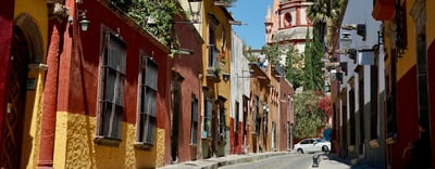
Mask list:
[[[126,43],[124,41],[113,34],[104,32],[98,82],[97,143],[113,143],[117,146],[121,141],[121,121],[124,112],[125,49]],[[114,142],[110,143],[109,140],[114,140]]]

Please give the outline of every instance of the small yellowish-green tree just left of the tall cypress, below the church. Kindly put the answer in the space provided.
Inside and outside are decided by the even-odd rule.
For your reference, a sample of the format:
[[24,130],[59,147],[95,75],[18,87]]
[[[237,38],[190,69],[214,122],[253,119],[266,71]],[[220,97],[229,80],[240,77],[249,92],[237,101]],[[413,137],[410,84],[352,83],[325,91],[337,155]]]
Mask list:
[[293,84],[294,89],[298,89],[303,83],[302,60],[302,55],[289,44],[286,52],[286,79]]

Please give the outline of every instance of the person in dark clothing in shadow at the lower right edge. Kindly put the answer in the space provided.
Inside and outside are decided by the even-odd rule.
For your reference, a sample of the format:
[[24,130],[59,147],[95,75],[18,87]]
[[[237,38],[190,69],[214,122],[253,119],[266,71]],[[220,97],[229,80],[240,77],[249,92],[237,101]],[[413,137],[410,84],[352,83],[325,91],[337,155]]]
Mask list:
[[409,143],[403,151],[406,169],[427,169],[431,168],[431,135],[428,132],[428,119],[419,119],[420,139]]

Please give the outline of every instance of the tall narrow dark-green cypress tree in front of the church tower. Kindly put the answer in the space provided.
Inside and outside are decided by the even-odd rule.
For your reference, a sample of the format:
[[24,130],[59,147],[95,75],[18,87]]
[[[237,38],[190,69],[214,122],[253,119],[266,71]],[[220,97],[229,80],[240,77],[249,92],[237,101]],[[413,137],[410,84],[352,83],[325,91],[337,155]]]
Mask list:
[[[318,34],[319,32],[314,29],[313,37]],[[310,40],[309,31],[307,31],[303,90],[323,91],[324,79],[322,67],[324,67],[324,64],[322,58],[324,57],[324,52],[325,51],[319,39],[314,38],[313,40]]]

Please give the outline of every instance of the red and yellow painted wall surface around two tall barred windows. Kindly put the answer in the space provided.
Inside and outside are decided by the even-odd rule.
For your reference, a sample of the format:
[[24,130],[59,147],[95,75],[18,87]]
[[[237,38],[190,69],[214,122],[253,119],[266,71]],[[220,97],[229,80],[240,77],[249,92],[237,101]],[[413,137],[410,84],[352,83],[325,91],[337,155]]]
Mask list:
[[[74,1],[66,4],[77,22]],[[169,164],[164,159],[165,118],[169,98],[167,49],[141,30],[122,13],[112,12],[99,1],[84,1],[78,10],[87,9],[91,22],[87,31],[74,24],[65,32],[61,55],[58,113],[55,119],[54,168],[154,168]],[[91,9],[91,10],[90,10]],[[71,25],[69,25],[71,26]],[[101,56],[102,30],[119,30],[126,42],[126,77],[122,142],[119,147],[95,144],[98,105],[98,69]],[[157,95],[156,144],[149,151],[136,150],[136,116],[139,51],[151,54],[159,65]],[[144,160],[147,159],[147,160]]]

